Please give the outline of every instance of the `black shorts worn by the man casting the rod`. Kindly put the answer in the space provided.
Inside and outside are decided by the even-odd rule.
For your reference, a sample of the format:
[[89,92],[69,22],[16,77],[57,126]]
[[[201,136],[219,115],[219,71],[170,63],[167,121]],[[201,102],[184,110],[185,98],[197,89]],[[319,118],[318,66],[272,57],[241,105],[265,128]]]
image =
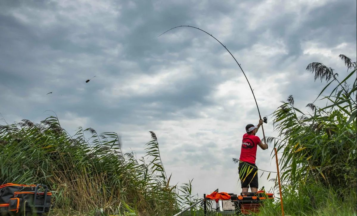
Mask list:
[[241,161],[238,173],[242,188],[249,186],[258,188],[258,168],[255,164]]

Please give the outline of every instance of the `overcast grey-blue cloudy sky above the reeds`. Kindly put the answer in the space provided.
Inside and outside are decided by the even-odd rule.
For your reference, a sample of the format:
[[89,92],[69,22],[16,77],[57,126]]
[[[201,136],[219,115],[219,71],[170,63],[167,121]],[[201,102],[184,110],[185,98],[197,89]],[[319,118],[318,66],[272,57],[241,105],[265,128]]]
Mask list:
[[[39,122],[53,110],[70,133],[116,132],[138,157],[152,130],[171,184],[194,179],[200,196],[240,193],[232,158],[245,125],[258,123],[252,93],[204,32],[180,27],[157,37],[179,25],[206,30],[232,52],[262,116],[290,94],[302,109],[315,99],[325,83],[314,82],[308,63],[341,76],[338,55],[356,61],[356,0],[1,0],[0,118]],[[271,150],[258,149],[258,168],[276,170]]]

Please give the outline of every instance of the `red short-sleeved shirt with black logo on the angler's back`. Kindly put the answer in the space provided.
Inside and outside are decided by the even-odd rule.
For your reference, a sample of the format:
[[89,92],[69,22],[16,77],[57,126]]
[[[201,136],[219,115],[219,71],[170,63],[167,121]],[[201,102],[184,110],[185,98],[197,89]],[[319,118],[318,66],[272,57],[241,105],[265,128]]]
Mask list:
[[241,156],[239,160],[255,164],[257,157],[257,146],[260,138],[255,135],[244,134],[242,140]]

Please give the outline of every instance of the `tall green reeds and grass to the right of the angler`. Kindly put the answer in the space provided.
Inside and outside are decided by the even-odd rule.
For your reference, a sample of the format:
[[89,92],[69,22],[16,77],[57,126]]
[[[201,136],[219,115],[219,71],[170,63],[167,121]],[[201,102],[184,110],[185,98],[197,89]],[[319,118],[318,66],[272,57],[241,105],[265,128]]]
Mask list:
[[[291,215],[356,212],[356,62],[340,57],[347,67],[342,81],[322,63],[308,65],[315,80],[327,82],[315,102],[307,104],[310,112],[295,107],[293,96],[274,112],[278,137],[267,141],[282,152],[282,193]],[[328,87],[332,91],[326,94]]]

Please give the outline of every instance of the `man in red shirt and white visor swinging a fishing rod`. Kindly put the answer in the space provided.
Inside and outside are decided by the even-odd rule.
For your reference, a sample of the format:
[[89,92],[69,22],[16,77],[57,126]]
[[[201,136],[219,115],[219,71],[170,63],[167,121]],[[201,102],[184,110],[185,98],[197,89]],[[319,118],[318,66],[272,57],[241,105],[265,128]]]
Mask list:
[[255,165],[257,146],[263,150],[268,149],[267,144],[263,144],[255,134],[263,124],[260,119],[257,126],[248,124],[246,134],[243,135],[242,149],[239,162],[239,178],[242,184],[242,192],[248,192],[249,186],[252,192],[258,191],[258,168]]

